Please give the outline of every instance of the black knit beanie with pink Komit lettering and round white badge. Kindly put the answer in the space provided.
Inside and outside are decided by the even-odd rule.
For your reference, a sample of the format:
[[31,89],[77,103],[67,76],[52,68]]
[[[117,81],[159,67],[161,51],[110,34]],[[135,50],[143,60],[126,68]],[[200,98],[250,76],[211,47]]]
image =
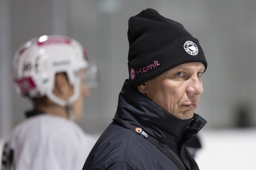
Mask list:
[[134,88],[180,64],[201,62],[207,68],[198,40],[154,9],[129,19],[128,40],[128,82]]

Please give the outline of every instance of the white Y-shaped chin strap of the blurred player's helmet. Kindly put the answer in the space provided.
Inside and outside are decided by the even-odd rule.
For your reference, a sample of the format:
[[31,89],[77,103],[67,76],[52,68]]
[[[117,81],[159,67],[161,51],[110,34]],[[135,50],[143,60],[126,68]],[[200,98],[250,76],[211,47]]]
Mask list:
[[74,83],[74,94],[73,96],[69,97],[69,99],[67,100],[60,99],[51,91],[47,92],[46,96],[55,104],[65,107],[68,119],[73,120],[74,119],[73,103],[78,98],[79,91],[80,91],[80,78],[77,78],[77,80]]

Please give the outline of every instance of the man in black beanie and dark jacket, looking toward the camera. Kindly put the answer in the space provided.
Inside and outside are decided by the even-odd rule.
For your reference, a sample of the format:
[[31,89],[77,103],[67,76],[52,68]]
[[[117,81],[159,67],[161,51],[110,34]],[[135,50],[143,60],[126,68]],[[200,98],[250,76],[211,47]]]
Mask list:
[[198,40],[153,9],[129,19],[128,40],[129,79],[83,170],[198,170],[185,146],[206,124],[194,113],[207,68]]

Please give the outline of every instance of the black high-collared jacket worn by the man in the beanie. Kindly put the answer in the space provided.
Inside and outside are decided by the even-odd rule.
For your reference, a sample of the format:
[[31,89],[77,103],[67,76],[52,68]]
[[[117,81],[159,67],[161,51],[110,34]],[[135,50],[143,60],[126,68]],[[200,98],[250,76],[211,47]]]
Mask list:
[[[128,85],[120,92],[114,119],[142,127],[157,139],[187,170],[197,170],[193,156],[184,145],[206,124],[194,113],[190,120],[180,120]],[[113,121],[102,133],[89,154],[83,170],[179,170],[160,149],[131,129]]]

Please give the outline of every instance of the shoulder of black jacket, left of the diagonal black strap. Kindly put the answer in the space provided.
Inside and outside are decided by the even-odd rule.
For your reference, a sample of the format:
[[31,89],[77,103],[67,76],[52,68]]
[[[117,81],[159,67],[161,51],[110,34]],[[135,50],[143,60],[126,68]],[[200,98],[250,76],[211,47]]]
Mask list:
[[175,167],[168,156],[150,141],[111,123],[91,150],[83,170],[162,170],[170,166]]

